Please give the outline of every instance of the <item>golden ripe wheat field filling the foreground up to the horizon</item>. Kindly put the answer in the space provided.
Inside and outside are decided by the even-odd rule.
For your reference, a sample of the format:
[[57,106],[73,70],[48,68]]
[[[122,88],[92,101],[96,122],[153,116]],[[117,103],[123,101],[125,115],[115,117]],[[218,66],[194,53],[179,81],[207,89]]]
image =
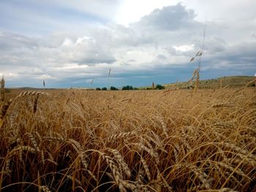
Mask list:
[[1,101],[0,191],[256,191],[255,88]]

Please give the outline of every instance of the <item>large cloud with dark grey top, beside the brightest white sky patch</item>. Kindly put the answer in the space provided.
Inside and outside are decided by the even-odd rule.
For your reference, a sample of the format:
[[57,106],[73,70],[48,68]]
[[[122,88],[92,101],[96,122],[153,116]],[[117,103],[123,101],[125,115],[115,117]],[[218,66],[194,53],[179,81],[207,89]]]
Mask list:
[[[203,24],[195,21],[195,13],[181,4],[155,9],[129,27],[109,23],[108,28],[97,28],[89,34],[102,44],[114,48],[187,44],[197,38]],[[201,31],[200,31],[201,32]]]

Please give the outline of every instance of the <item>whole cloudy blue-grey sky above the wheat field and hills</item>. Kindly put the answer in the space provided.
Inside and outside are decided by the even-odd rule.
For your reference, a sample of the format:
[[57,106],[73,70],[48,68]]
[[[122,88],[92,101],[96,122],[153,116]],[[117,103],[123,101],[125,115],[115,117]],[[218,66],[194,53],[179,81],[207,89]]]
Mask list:
[[187,81],[202,46],[201,79],[253,76],[255,9],[255,0],[0,0],[0,77],[13,88]]

